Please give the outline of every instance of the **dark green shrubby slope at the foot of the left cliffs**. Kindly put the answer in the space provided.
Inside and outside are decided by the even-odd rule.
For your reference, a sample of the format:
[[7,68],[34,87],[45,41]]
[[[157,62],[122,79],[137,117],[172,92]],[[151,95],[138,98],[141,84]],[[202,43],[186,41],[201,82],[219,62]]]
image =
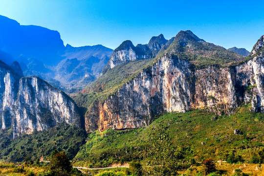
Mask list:
[[10,130],[0,130],[0,158],[2,161],[21,162],[48,157],[52,151],[65,152],[70,159],[77,154],[85,143],[86,135],[81,129],[69,125],[60,125],[49,130],[22,134],[11,139]]

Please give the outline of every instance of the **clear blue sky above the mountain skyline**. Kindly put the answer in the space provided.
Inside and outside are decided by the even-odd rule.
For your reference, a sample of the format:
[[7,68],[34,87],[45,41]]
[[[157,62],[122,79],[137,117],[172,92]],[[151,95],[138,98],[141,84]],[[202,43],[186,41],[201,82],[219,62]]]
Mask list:
[[180,30],[251,50],[264,35],[264,0],[0,0],[0,15],[60,32],[64,44],[146,44]]

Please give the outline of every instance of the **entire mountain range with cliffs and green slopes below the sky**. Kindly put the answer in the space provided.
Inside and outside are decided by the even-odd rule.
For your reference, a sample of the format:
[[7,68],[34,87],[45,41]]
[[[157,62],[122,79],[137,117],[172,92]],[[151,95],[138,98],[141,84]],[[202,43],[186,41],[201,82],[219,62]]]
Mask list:
[[[206,42],[190,30],[136,46],[127,40],[112,50],[100,44],[64,46],[57,31],[3,16],[0,24],[3,160],[47,158],[58,149],[91,166],[130,162],[140,160],[146,135],[167,129],[182,142],[178,146],[199,139],[193,146],[201,155],[221,154],[211,146],[211,152],[196,150],[201,142],[241,140],[232,144],[241,150],[262,142],[264,36],[250,53]],[[248,133],[230,137],[239,128]]]

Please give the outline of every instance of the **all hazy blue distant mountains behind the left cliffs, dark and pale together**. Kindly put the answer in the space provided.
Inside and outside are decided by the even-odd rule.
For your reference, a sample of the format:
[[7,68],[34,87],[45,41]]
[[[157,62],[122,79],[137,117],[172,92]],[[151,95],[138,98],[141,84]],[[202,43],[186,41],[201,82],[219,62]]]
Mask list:
[[[2,61],[9,65],[17,61],[24,76],[40,76],[66,91],[84,88],[92,82],[112,54],[112,49],[102,45],[64,46],[58,31],[20,25],[7,17],[0,16],[0,25]],[[62,70],[65,65],[66,70]]]

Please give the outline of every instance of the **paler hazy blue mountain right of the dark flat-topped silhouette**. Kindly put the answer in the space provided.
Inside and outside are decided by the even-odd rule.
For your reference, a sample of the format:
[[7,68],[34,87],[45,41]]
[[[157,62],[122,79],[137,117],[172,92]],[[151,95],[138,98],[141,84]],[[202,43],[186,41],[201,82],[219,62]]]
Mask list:
[[68,91],[84,88],[100,75],[112,52],[112,49],[101,44],[82,47],[67,44],[63,54],[66,59],[55,67],[55,79]]

